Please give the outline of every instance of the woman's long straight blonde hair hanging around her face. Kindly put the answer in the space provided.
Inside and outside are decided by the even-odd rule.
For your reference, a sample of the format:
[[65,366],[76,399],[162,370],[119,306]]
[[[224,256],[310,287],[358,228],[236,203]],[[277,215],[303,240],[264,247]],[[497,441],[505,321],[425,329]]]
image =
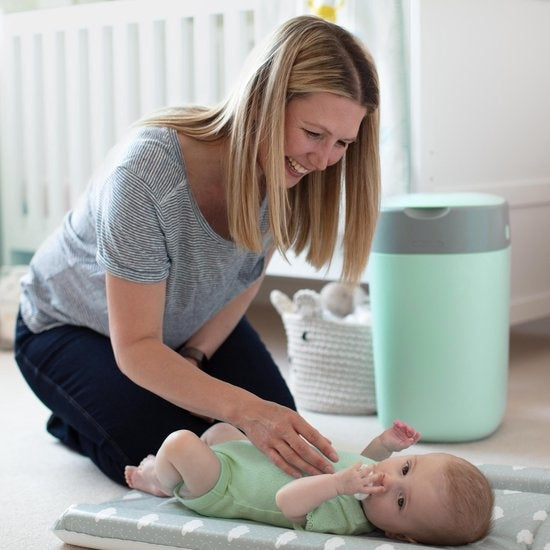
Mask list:
[[[315,92],[352,99],[366,107],[367,114],[342,160],[287,189],[285,108],[293,97]],[[283,254],[290,248],[297,254],[306,251],[307,261],[317,269],[329,264],[337,246],[343,194],[342,278],[356,283],[367,263],[379,209],[378,107],[378,76],[369,52],[338,25],[300,16],[254,51],[226,101],[211,108],[165,110],[142,123],[170,126],[203,141],[228,139],[229,231],[237,245],[249,250],[262,249],[259,211],[265,192],[276,248]],[[262,142],[267,152],[265,189],[258,166]]]

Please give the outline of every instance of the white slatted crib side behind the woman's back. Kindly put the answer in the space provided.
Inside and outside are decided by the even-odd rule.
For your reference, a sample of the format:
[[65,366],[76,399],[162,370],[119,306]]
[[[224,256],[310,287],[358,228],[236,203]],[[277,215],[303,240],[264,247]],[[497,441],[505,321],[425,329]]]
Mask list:
[[121,0],[4,16],[0,264],[28,260],[137,118],[221,99],[257,39],[294,15],[273,4]]

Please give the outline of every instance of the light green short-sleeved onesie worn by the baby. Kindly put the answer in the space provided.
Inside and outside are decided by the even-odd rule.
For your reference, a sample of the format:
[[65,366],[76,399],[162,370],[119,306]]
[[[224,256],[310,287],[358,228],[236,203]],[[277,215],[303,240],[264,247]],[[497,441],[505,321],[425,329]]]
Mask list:
[[[187,508],[204,516],[251,519],[279,527],[305,529],[339,535],[368,533],[373,526],[367,521],[361,503],[353,496],[338,496],[312,510],[305,526],[287,520],[275,503],[275,494],[294,478],[277,468],[248,440],[228,441],[214,445],[212,450],[221,464],[220,477],[208,493],[197,498],[186,498],[180,483],[174,496]],[[372,460],[347,452],[339,452],[334,464],[342,470],[361,460]]]

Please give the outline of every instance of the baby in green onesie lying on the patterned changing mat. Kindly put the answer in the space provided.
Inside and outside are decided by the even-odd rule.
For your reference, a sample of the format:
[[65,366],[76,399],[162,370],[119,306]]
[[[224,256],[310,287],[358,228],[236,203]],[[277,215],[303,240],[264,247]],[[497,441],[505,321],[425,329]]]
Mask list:
[[127,466],[125,475],[130,487],[175,496],[207,516],[348,535],[378,528],[424,544],[483,538],[493,493],[475,466],[444,453],[390,458],[419,438],[396,421],[361,455],[340,452],[334,473],[293,479],[237,428],[219,423],[200,438],[187,430],[172,433],[156,456]]

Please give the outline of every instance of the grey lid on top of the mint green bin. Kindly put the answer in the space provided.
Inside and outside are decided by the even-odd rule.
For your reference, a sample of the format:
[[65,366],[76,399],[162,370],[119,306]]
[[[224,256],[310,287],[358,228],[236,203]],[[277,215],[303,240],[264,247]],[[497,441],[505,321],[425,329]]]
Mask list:
[[372,252],[464,254],[510,246],[507,202],[483,193],[411,193],[382,203]]

